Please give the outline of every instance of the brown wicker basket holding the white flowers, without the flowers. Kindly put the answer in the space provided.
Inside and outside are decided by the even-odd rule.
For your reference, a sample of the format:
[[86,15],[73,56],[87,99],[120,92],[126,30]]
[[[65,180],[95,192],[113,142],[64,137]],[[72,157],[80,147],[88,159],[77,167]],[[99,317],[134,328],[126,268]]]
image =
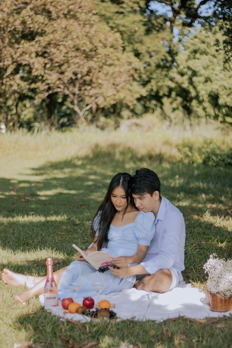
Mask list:
[[204,285],[204,292],[206,294],[207,304],[209,304],[212,311],[227,312],[232,310],[232,297],[222,299],[218,295],[210,294],[206,284]]

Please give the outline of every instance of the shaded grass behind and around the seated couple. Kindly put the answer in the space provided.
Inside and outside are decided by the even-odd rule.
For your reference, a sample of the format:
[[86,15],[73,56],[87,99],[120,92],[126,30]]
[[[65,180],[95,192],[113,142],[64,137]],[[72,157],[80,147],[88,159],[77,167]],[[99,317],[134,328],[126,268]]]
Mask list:
[[48,248],[63,252],[69,259],[68,255],[74,255],[72,242],[82,248],[91,242],[91,220],[113,175],[119,171],[133,174],[141,166],[158,173],[163,195],[183,212],[184,277],[200,280],[203,273],[199,268],[211,253],[230,257],[228,230],[202,220],[206,211],[231,217],[229,169],[165,162],[160,155],[139,157],[132,149],[118,151],[114,146],[107,150],[98,147],[83,158],[33,168],[33,181],[1,178],[0,247],[13,252]]

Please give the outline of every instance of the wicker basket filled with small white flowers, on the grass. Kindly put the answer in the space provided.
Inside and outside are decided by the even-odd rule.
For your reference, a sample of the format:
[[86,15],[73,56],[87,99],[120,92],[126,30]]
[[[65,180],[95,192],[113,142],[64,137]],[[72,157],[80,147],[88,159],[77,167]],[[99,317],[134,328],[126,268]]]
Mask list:
[[209,276],[204,290],[210,309],[218,312],[232,310],[232,259],[225,260],[212,254],[203,268]]

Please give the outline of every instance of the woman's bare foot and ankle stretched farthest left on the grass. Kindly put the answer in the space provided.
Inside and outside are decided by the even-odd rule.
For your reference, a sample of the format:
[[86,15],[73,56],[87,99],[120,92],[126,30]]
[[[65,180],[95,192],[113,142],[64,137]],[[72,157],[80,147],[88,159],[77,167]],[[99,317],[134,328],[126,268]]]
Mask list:
[[5,284],[11,286],[27,286],[31,288],[38,281],[43,279],[44,277],[33,277],[33,276],[25,276],[24,274],[14,273],[7,268],[4,268],[1,274],[1,279]]

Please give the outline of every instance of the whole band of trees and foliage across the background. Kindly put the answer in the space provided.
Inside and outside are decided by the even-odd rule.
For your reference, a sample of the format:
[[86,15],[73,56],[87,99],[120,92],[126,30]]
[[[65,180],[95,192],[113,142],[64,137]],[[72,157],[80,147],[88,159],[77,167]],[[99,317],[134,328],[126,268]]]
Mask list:
[[0,2],[0,121],[117,127],[160,112],[231,122],[229,1],[158,2],[172,17],[147,0]]

